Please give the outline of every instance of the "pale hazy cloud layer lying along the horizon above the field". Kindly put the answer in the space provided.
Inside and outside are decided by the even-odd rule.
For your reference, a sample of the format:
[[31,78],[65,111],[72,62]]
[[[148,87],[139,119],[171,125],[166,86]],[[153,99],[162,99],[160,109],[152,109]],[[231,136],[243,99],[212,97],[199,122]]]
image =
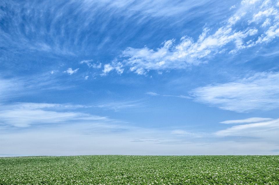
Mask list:
[[273,140],[272,138],[254,138],[239,142],[239,140],[220,141],[220,137],[234,136],[232,133],[230,135],[211,134],[213,140],[208,135],[182,129],[158,130],[127,127],[103,121],[94,124],[79,122],[23,129],[1,127],[0,156],[278,155],[278,151],[276,152],[278,137]]

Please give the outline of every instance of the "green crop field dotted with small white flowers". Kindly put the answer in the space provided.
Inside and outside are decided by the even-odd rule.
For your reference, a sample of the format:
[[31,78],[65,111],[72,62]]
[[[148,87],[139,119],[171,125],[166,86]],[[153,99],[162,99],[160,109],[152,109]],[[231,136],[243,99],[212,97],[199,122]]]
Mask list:
[[279,184],[279,156],[1,157],[0,184]]

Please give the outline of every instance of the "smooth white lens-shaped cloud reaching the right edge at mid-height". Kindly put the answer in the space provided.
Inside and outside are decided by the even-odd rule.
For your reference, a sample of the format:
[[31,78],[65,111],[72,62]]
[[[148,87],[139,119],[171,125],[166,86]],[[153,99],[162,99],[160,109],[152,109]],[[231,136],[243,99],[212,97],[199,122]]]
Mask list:
[[279,108],[279,72],[262,72],[225,84],[191,91],[196,101],[223,110],[248,112]]

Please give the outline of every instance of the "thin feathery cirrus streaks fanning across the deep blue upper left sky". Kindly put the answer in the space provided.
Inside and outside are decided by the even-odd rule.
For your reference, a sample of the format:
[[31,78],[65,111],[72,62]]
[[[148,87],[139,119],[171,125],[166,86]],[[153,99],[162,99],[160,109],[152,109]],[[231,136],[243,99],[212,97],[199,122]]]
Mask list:
[[[0,29],[0,44],[8,50],[30,49],[74,56],[82,51],[81,48],[88,48],[92,42],[96,42],[94,38],[96,33],[99,34],[97,37],[100,37],[97,39],[100,39],[97,46],[100,49],[104,43],[112,40],[111,35],[103,37],[105,29],[109,29],[110,32],[122,31],[119,27],[116,29],[110,27],[116,17],[125,17],[124,22],[129,19],[142,22],[152,17],[183,15],[187,10],[206,2],[208,0],[198,2],[78,0],[59,3],[49,0],[40,3],[5,1],[1,3],[3,11],[1,10],[0,16],[3,20],[9,20],[9,24]],[[36,17],[37,15],[40,15],[40,18]],[[74,18],[71,15],[75,15]],[[102,22],[101,26],[98,24],[99,21]],[[22,29],[18,29],[20,25],[24,25]],[[91,25],[96,29],[92,29]],[[94,34],[86,33],[86,30]]]

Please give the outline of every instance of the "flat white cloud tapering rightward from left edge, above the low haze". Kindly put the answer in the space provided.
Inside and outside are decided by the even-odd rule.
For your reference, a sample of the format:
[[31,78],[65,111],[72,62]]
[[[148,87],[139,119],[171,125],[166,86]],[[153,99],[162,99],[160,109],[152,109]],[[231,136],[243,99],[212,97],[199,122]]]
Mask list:
[[[71,108],[71,105],[48,103],[19,103],[2,106],[0,110],[1,124],[16,127],[28,127],[32,124],[57,124],[77,120],[108,120],[106,117],[92,116],[80,112],[58,112],[54,108]],[[80,107],[80,106],[78,106]],[[52,110],[47,110],[51,108]]]

